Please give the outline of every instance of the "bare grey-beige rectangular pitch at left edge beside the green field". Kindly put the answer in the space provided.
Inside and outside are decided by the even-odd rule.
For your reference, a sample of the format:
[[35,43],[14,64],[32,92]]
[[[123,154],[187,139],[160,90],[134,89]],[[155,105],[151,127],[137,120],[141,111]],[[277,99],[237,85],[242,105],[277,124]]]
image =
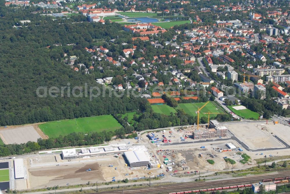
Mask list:
[[13,129],[1,130],[1,139],[4,143],[27,143],[37,141],[41,136],[35,131],[33,126],[18,127]]

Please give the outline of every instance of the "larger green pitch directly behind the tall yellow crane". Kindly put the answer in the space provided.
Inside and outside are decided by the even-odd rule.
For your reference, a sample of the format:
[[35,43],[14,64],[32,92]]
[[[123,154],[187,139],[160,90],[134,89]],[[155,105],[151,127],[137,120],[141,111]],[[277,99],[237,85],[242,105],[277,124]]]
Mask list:
[[[201,108],[205,103],[180,103],[177,106],[177,109],[183,109],[184,112],[191,116],[197,116],[197,109]],[[206,112],[219,112],[219,113],[225,113],[222,109],[216,107],[212,102],[209,102],[203,109],[200,111],[200,117],[202,116],[208,116],[207,114],[204,114]],[[211,114],[210,117],[216,116],[217,114]]]

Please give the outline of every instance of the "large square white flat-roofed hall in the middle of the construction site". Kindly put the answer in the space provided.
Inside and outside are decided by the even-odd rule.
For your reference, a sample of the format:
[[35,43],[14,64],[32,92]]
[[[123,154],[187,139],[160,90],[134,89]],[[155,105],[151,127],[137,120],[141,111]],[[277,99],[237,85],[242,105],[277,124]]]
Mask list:
[[129,162],[130,167],[148,166],[150,162],[149,158],[145,155],[143,150],[127,151],[124,152],[124,155]]

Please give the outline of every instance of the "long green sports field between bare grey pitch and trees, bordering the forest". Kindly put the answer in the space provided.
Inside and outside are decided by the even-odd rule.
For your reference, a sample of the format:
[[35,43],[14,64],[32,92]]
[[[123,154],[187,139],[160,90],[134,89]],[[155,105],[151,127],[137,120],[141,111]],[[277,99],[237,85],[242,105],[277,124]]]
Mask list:
[[73,132],[102,132],[103,130],[116,130],[122,127],[112,115],[91,116],[70,120],[51,121],[39,125],[44,134],[49,137],[68,135]]

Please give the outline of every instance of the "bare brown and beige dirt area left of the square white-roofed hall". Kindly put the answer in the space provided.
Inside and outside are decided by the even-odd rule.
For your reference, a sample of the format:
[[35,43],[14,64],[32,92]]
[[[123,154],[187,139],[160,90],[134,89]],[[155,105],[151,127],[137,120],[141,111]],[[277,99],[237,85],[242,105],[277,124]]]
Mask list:
[[[129,168],[125,166],[125,160],[122,156],[119,158],[113,155],[79,158],[72,161],[54,159],[54,155],[40,155],[28,158],[28,163],[32,160],[32,166],[29,166],[29,183],[31,188],[43,188],[50,186],[64,186],[69,184],[86,184],[96,182],[110,182],[112,178],[116,181],[123,179],[133,179],[162,173],[162,169],[154,168],[148,170],[146,167]],[[60,166],[56,166],[60,164]],[[108,167],[113,165],[113,167]],[[117,167],[117,170],[115,170]],[[86,170],[91,169],[87,172]],[[131,175],[125,175],[130,174]]]

